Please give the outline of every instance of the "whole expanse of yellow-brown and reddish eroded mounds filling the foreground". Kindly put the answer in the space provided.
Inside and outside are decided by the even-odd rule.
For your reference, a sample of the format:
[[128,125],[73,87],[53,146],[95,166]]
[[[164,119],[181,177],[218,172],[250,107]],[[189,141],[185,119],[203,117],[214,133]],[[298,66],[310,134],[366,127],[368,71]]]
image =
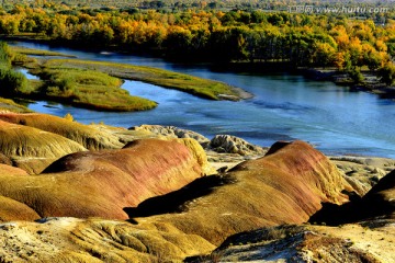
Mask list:
[[[286,255],[301,261],[323,256],[330,261],[334,251],[357,262],[393,259],[387,254],[377,258],[369,251],[360,253],[359,247],[353,247],[340,228],[285,226],[256,230],[303,224],[321,208],[321,203],[341,205],[348,202],[342,191],[357,188],[350,186],[328,158],[306,142],[275,144],[262,158],[211,175],[214,171],[202,146],[178,132],[163,136],[166,139],[135,140],[138,136],[151,137],[151,132],[99,126],[86,129],[87,126],[66,119],[54,118],[55,123],[47,125],[34,115],[2,116],[7,119],[0,121],[0,133],[5,136],[1,138],[7,138],[0,145],[2,261],[165,262],[193,255],[199,255],[194,260],[240,260],[246,255],[238,258],[241,252],[262,255],[251,260]],[[58,129],[57,124],[70,124],[72,133],[83,136],[76,139],[67,129]],[[111,139],[97,139],[91,128],[100,132],[99,137],[111,135]],[[81,146],[89,147],[87,141],[91,139],[94,141],[91,147],[98,151],[87,151]],[[257,152],[237,138],[224,139],[221,147],[234,141],[232,147],[237,151]],[[102,150],[120,148],[120,140],[132,142],[123,149]],[[71,146],[76,148],[67,148]],[[23,157],[32,160],[24,168],[32,167],[37,161],[36,155],[47,158],[47,151],[54,159],[61,158],[50,165],[41,165],[45,170],[40,175],[10,165],[21,163],[19,158]],[[392,215],[394,173],[388,175],[362,203],[353,205],[357,207],[353,211],[360,213],[366,205],[384,204],[377,210],[385,207],[383,213]],[[346,206],[349,205],[340,207]],[[374,215],[383,216],[383,213]],[[10,221],[15,219],[26,221]],[[394,229],[384,227],[383,232],[372,229],[371,236],[390,238],[387,233]],[[233,237],[230,242],[241,244],[230,245],[228,240],[208,258],[201,258],[229,236],[250,230],[261,232]],[[259,240],[262,231],[269,236]],[[332,237],[327,237],[327,232]],[[373,244],[373,238],[371,241]],[[289,248],[281,250],[285,244]]]

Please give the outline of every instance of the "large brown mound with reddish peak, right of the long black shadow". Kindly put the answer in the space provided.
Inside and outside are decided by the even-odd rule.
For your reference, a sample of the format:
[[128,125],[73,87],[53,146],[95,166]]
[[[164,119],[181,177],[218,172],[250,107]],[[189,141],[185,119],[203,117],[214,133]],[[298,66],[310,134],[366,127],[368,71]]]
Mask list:
[[[350,186],[313,147],[295,141],[273,149],[269,156],[240,163],[227,174],[216,176],[217,180],[208,181],[214,178],[208,176],[199,180],[201,184],[190,184],[185,192],[194,192],[193,195],[181,191],[180,196],[169,197],[173,202],[183,201],[170,210],[182,213],[135,220],[170,222],[218,244],[236,232],[306,221],[321,207],[321,202],[348,201],[340,192]],[[131,217],[157,215],[156,202],[160,206],[166,203],[161,198],[166,196],[129,209]],[[145,209],[145,205],[150,209]]]

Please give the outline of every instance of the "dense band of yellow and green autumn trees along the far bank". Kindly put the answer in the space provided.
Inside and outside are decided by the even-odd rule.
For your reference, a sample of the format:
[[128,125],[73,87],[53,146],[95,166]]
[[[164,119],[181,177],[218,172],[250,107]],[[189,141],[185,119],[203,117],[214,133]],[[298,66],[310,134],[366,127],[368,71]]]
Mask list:
[[[169,11],[171,2],[155,5],[158,2],[151,1],[147,8],[95,9],[88,7],[89,1],[84,7],[45,1],[15,4],[0,11],[0,34],[184,61],[331,67],[350,72],[356,80],[360,70],[369,69],[394,84],[395,20],[391,9],[386,13],[323,14],[259,8],[226,11],[207,3]],[[387,4],[391,7],[390,1]]]

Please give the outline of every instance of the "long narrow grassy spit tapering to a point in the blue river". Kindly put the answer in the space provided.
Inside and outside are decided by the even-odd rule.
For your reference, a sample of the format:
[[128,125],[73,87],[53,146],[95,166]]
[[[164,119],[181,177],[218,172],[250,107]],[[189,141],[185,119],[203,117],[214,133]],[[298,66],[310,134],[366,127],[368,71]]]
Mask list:
[[97,70],[117,78],[138,80],[211,100],[221,100],[225,96],[232,100],[239,99],[236,89],[226,83],[158,68],[78,59],[50,59],[46,66]]

